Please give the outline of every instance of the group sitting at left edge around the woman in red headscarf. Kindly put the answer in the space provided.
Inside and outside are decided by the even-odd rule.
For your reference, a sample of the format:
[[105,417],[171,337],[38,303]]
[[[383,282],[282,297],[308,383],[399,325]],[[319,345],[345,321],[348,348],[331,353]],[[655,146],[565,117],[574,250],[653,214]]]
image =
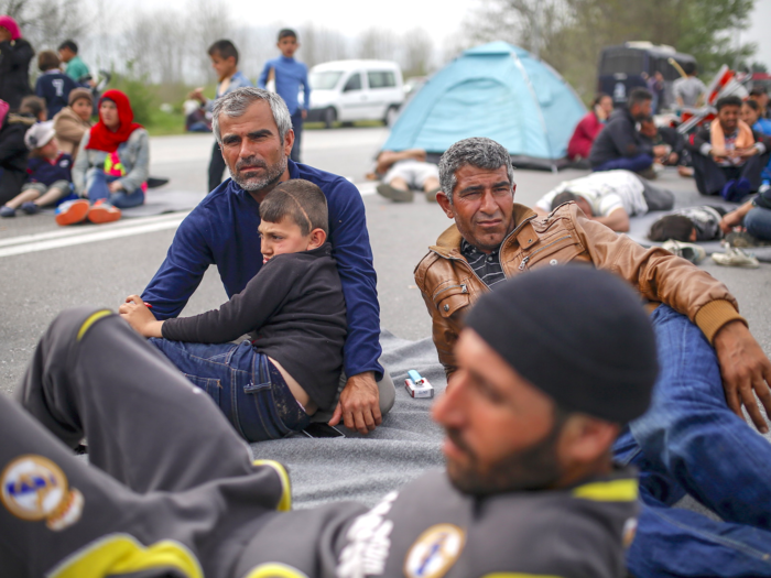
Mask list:
[[[58,225],[110,222],[144,203],[146,131],[120,90],[99,95],[72,40],[37,54],[17,22],[0,17],[0,217],[54,210]],[[63,67],[64,65],[64,67]]]

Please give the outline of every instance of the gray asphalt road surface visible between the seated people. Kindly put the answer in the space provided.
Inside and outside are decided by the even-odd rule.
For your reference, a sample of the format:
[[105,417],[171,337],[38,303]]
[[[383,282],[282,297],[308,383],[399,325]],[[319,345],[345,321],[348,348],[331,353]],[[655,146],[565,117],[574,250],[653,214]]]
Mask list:
[[[387,130],[379,128],[306,131],[303,156],[313,166],[361,185],[382,327],[405,339],[421,339],[431,335],[431,324],[412,271],[450,221],[422,197],[395,205],[372,194],[365,174],[386,137]],[[151,173],[170,177],[174,189],[199,190],[203,198],[211,143],[210,135],[154,138]],[[517,200],[532,204],[561,181],[582,174],[518,171]],[[665,174],[662,182],[675,190],[694,186],[674,174]],[[163,188],[150,194],[162,195]],[[8,393],[15,386],[41,332],[58,312],[76,305],[117,308],[127,295],[140,293],[163,261],[181,217],[124,219],[75,231],[58,228],[50,215],[1,220],[0,391]],[[771,355],[771,265],[737,270],[708,261],[703,269],[734,292],[756,337]],[[217,272],[210,269],[185,314],[216,307],[225,298]]]

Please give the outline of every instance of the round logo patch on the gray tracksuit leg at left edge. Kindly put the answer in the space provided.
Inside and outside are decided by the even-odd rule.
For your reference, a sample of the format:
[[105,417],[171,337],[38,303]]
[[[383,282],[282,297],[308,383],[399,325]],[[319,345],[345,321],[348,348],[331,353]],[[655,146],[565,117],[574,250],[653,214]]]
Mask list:
[[69,489],[62,469],[42,456],[21,456],[0,475],[0,501],[17,517],[46,520],[54,531],[80,519],[83,494]]

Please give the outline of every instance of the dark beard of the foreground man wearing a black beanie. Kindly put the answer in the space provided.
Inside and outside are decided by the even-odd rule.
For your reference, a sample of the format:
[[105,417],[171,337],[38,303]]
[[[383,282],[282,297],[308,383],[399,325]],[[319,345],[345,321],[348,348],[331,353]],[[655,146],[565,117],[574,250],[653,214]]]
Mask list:
[[447,476],[453,486],[464,493],[488,495],[501,492],[540,490],[553,486],[562,476],[557,459],[557,439],[564,419],[555,415],[552,429],[531,447],[508,456],[481,471],[479,460],[455,429],[447,437],[469,457],[468,466],[447,461]]

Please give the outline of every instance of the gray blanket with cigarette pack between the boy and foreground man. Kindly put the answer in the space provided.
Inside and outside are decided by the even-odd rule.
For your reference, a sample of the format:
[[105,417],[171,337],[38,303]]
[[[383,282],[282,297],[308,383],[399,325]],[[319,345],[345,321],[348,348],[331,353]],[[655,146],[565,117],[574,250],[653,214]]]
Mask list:
[[443,466],[443,434],[430,413],[433,400],[415,400],[404,389],[408,370],[416,369],[434,386],[435,395],[444,391],[444,369],[433,341],[406,341],[383,331],[380,343],[381,363],[393,378],[397,401],[374,432],[361,436],[341,428],[346,438],[252,444],[256,459],[274,459],[287,467],[295,508],[343,499],[373,505],[427,468]]

